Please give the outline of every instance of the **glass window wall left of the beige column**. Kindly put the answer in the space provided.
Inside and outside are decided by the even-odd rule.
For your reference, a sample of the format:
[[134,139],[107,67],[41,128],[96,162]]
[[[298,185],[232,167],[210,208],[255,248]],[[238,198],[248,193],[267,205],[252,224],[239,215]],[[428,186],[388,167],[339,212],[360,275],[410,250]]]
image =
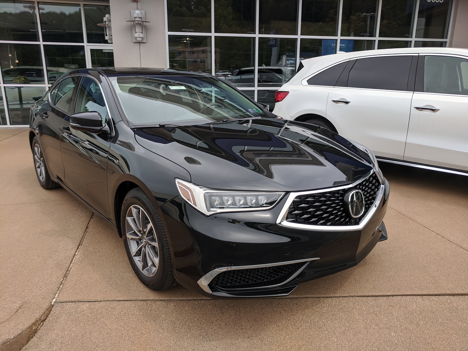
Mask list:
[[62,74],[114,66],[97,25],[109,4],[90,2],[0,0],[0,126],[28,125],[33,98]]

